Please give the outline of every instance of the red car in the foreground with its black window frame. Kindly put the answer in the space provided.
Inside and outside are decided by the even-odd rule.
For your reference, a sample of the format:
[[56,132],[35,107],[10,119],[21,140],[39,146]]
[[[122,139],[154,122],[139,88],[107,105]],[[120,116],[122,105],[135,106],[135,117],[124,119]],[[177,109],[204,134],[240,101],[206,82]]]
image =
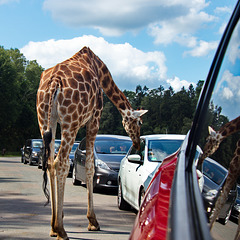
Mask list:
[[[198,144],[201,146],[200,142],[202,141],[203,144],[203,139],[205,139],[203,135],[206,136],[209,103],[214,95],[213,88],[217,79],[222,76],[222,73],[230,71],[239,75],[239,56],[235,59],[235,63],[238,64],[235,71],[233,68],[228,72],[220,69],[221,66],[230,66],[225,64],[225,61],[228,60],[227,56],[229,56],[227,50],[231,50],[230,46],[234,46],[234,44],[236,46],[237,43],[239,49],[240,26],[237,26],[239,17],[240,2],[238,1],[202,88],[192,127],[180,150],[163,161],[152,179],[136,217],[130,235],[131,240],[212,239],[207,225],[202,195],[199,191],[194,158],[196,146]],[[230,56],[233,57],[233,55]],[[220,82],[223,80],[221,77]],[[226,84],[224,87],[227,87]],[[215,92],[221,90],[219,85],[216,84],[216,86]]]

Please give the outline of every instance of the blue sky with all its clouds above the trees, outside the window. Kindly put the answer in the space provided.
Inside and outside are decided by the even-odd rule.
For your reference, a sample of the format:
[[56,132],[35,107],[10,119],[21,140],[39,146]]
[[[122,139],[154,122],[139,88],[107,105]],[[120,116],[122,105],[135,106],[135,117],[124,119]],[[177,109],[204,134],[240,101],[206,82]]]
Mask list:
[[205,79],[234,0],[0,0],[0,45],[44,68],[89,46],[120,89]]

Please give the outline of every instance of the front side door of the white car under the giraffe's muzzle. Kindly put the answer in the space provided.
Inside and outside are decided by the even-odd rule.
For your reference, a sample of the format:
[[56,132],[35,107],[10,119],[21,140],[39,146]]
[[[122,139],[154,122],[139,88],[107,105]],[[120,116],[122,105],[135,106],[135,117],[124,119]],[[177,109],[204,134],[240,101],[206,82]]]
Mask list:
[[127,201],[129,201],[133,205],[133,207],[138,209],[139,190],[140,190],[140,186],[143,183],[142,170],[143,170],[144,155],[145,155],[145,140],[141,140],[140,150],[136,150],[134,147],[132,147],[128,156],[133,154],[140,155],[141,164],[130,162],[127,158],[126,167],[125,167],[126,168],[125,169],[125,173],[126,173],[125,187],[126,187]]

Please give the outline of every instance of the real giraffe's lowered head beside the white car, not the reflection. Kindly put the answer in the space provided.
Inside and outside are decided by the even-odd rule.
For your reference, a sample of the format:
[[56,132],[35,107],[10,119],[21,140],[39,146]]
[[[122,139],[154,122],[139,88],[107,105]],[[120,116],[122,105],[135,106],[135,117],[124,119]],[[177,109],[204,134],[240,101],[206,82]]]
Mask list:
[[141,116],[148,110],[128,111],[123,114],[122,124],[128,136],[132,139],[133,146],[140,149],[140,129],[142,125]]

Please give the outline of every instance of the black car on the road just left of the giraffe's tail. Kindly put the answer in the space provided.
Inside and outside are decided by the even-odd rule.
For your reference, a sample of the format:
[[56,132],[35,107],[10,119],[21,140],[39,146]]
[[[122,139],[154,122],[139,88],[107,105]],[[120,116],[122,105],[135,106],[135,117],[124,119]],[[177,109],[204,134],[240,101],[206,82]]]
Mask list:
[[24,164],[33,163],[38,164],[38,153],[43,146],[42,139],[28,139],[25,147],[23,148],[23,162]]

